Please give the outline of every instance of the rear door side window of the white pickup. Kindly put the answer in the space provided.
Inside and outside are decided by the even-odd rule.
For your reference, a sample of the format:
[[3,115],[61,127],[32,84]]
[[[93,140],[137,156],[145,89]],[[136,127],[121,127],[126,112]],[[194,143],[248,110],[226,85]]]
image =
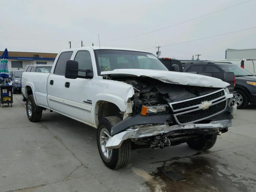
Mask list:
[[60,54],[58,61],[56,63],[55,69],[54,69],[54,74],[56,75],[64,75],[65,74],[65,69],[66,69],[66,62],[67,60],[70,60],[73,52],[68,51],[68,52],[63,52]]

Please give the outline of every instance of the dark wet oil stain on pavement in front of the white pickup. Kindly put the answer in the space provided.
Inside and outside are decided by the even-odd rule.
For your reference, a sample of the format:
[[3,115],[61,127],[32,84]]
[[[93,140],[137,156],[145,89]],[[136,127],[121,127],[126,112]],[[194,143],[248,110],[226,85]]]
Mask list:
[[[253,178],[238,178],[235,174],[225,173],[228,165],[204,156],[193,156],[164,162],[166,170],[177,172],[186,179],[171,181],[160,171],[152,172],[145,183],[152,192],[254,192],[253,185],[243,181]],[[223,170],[223,171],[222,171]]]

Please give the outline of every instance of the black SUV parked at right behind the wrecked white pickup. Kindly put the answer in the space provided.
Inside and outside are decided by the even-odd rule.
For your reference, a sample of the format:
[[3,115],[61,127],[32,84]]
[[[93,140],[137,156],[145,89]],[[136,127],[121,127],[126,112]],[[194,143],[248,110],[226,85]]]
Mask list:
[[184,72],[233,72],[236,85],[233,103],[238,109],[245,108],[248,103],[256,103],[256,76],[232,63],[185,63]]

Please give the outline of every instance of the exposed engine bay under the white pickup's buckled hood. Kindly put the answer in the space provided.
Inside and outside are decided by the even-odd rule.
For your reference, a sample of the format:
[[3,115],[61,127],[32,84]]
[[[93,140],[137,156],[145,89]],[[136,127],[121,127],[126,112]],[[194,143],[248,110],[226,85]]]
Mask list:
[[133,114],[139,114],[142,105],[151,106],[168,104],[170,102],[202,96],[219,89],[164,83],[148,77],[127,78],[127,76],[125,76],[125,78],[126,80],[119,76],[119,78],[115,80],[119,80],[133,86],[134,96],[131,98],[134,103],[132,109]]

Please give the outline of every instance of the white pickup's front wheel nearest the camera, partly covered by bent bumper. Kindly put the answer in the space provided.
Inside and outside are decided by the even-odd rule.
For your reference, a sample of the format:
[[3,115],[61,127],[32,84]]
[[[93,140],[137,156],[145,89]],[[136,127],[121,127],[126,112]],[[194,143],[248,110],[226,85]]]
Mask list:
[[131,142],[125,140],[120,148],[108,149],[106,142],[110,137],[111,128],[118,124],[121,119],[117,116],[109,116],[99,121],[97,130],[97,145],[100,157],[104,164],[110,169],[120,169],[126,166],[131,156]]

